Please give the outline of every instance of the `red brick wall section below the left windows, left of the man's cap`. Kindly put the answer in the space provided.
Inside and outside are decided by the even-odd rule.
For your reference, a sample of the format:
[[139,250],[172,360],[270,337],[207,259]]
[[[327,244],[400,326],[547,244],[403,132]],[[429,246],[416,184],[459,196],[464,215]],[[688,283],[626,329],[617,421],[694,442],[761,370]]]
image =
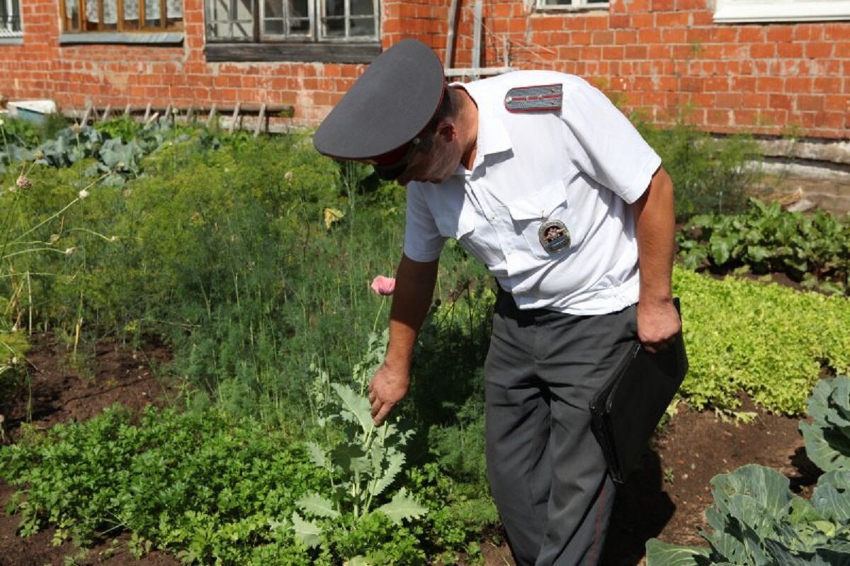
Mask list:
[[0,45],[0,93],[87,105],[293,105],[297,123],[320,121],[363,65],[207,63],[202,0],[184,0],[182,47],[59,46],[58,0],[22,0],[23,45]]

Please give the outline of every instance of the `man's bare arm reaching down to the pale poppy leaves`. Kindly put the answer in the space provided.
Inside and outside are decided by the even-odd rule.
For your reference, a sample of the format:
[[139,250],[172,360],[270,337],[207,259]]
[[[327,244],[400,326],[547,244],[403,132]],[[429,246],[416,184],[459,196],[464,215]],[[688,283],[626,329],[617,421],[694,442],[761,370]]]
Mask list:
[[411,387],[416,336],[428,314],[437,281],[438,261],[416,262],[401,256],[389,312],[389,343],[383,364],[369,383],[371,415],[380,424]]

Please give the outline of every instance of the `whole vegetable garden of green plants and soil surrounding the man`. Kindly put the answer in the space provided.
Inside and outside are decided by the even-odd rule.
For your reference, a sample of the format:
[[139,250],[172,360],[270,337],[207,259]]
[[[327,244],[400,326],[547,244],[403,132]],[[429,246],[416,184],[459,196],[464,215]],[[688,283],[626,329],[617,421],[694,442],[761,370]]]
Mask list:
[[[0,508],[26,518],[0,517],[0,566],[510,564],[486,495],[483,267],[446,246],[395,411],[405,431],[385,428],[376,448],[356,391],[385,348],[388,298],[368,282],[398,261],[403,191],[321,158],[301,133],[57,126],[7,123],[14,143],[0,151],[0,442],[18,443],[0,472],[30,483],[26,505],[0,483]],[[653,139],[677,218],[700,218],[680,235],[682,261],[715,277],[674,269],[690,360],[680,394],[694,409],[680,405],[620,490],[604,564],[642,563],[654,537],[704,545],[710,480],[744,464],[818,500],[800,418],[778,415],[802,415],[822,377],[850,373],[847,226],[748,206],[745,140],[721,146],[687,127]],[[150,336],[167,348],[122,346]],[[171,386],[166,373],[179,376]],[[190,410],[142,410],[175,399]],[[128,411],[106,410],[116,403]],[[24,433],[30,420],[51,432]],[[665,550],[653,544],[655,561]]]

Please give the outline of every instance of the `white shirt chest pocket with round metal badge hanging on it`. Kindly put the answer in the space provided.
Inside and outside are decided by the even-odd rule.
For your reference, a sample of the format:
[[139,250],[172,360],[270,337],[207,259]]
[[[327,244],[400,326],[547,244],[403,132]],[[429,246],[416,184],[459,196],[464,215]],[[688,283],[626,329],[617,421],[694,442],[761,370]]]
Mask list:
[[[562,258],[584,237],[581,219],[573,218],[564,179],[507,202],[505,206],[520,238],[519,244],[536,258]],[[564,241],[564,236],[569,243]]]

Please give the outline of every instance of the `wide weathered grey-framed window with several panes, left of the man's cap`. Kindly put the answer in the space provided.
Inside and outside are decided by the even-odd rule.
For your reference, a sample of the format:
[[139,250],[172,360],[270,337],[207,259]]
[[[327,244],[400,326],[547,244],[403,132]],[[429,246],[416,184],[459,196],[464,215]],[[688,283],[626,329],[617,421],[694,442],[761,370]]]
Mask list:
[[377,42],[378,0],[204,0],[208,42]]

